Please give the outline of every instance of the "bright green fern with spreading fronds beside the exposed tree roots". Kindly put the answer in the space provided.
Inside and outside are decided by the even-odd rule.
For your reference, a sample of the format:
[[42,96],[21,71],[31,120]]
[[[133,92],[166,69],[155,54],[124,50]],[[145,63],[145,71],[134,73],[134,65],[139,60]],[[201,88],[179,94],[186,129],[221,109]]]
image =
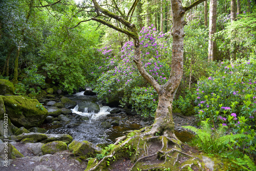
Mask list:
[[[197,141],[199,146],[205,152],[219,153],[223,147],[236,139],[246,138],[245,134],[225,135],[227,126],[220,126],[217,130],[211,130],[208,121],[201,122],[201,129],[196,129],[194,126],[183,126],[184,128],[195,132],[200,141]],[[256,171],[256,170],[255,170]]]

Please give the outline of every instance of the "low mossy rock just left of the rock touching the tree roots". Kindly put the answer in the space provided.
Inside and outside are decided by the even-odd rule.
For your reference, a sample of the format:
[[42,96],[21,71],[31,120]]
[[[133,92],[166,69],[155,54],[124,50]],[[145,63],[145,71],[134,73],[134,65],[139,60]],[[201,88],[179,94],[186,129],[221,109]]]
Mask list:
[[54,154],[56,152],[60,152],[67,149],[67,144],[62,141],[53,141],[48,142],[45,145],[42,146],[42,154]]

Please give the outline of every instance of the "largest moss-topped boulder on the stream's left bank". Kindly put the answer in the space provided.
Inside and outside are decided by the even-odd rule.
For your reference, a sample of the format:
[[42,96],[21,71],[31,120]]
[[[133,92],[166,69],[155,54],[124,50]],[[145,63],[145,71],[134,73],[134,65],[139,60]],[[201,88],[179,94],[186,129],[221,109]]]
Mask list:
[[36,99],[24,96],[2,96],[6,114],[11,122],[18,127],[27,129],[39,126],[48,116],[48,111]]

